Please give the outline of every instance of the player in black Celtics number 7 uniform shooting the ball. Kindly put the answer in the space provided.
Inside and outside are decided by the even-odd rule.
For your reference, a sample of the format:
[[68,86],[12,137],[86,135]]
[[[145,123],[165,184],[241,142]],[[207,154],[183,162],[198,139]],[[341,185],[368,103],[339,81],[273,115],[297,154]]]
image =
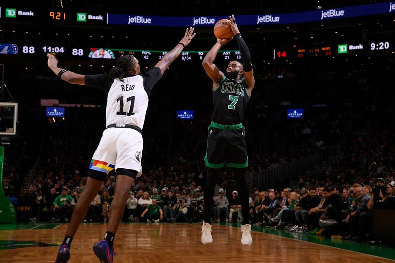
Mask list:
[[[235,174],[238,194],[241,199],[243,225],[241,226],[243,245],[250,245],[252,237],[249,224],[249,193],[245,181],[245,171],[248,166],[247,147],[245,142],[245,128],[242,121],[248,100],[255,84],[250,52],[240,31],[235,17],[229,17],[228,22],[237,40],[243,64],[234,60],[229,62],[225,72],[218,70],[213,64],[220,48],[231,39],[217,39],[203,60],[203,67],[212,79],[214,105],[211,124],[208,127],[207,153],[204,158],[207,166],[207,183],[204,188],[204,221],[202,225],[201,242],[213,242],[211,236],[210,214],[213,207],[215,184],[226,161],[227,167],[232,167]],[[219,215],[217,215],[219,217]],[[228,219],[229,215],[226,216]]]

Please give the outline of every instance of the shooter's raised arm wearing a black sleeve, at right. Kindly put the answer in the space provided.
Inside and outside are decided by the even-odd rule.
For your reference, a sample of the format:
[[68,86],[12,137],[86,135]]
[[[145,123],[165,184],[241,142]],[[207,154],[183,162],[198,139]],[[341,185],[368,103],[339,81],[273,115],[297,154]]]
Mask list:
[[251,94],[251,90],[254,88],[255,85],[255,78],[254,78],[254,69],[252,68],[251,63],[251,55],[250,51],[248,50],[247,45],[245,44],[243,38],[241,37],[240,31],[238,30],[235,16],[229,16],[229,26],[231,27],[233,33],[235,34],[235,38],[237,40],[238,48],[240,49],[241,58],[243,59],[243,70],[244,70],[244,80],[247,84],[248,92]]

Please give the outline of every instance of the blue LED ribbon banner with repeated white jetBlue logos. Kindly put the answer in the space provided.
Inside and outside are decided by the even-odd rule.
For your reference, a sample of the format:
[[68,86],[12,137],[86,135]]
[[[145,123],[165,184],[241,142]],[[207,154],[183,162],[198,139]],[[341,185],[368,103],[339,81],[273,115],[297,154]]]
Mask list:
[[[391,12],[395,13],[395,3],[384,2],[291,14],[236,15],[236,19],[238,25],[294,24]],[[107,14],[107,24],[156,27],[199,27],[214,26],[215,22],[223,18],[224,16],[167,17]]]

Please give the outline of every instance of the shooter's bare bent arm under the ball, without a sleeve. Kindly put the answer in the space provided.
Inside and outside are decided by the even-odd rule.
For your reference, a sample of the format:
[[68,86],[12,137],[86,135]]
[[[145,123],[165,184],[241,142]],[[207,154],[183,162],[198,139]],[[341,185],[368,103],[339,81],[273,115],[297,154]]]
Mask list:
[[208,51],[206,56],[203,59],[203,68],[206,71],[206,74],[213,80],[213,89],[217,86],[219,82],[221,82],[222,78],[224,77],[224,73],[221,72],[217,66],[213,63],[215,57],[217,56],[218,51],[220,48],[231,41],[232,38],[229,39],[219,39],[217,38],[217,43]]

